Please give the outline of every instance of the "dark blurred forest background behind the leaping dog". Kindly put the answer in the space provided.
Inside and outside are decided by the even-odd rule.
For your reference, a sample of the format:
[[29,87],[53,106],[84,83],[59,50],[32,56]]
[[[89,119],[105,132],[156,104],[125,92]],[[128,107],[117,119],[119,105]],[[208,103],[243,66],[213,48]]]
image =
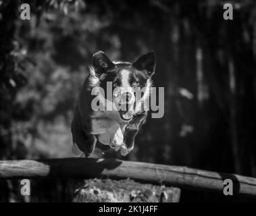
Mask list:
[[[29,3],[31,20],[20,19]],[[221,0],[0,0],[0,159],[70,157],[70,123],[93,53],[157,53],[165,115],[148,119],[122,159],[256,178],[256,3]],[[0,182],[1,201],[66,200],[64,180]],[[57,191],[57,192],[56,192]],[[182,190],[181,201],[229,201]],[[239,199],[245,200],[245,199]]]

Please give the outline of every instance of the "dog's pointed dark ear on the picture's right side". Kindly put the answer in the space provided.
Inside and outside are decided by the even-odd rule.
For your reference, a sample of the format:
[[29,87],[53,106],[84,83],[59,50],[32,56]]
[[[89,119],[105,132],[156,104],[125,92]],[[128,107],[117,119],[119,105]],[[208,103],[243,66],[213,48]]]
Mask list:
[[152,76],[155,73],[155,51],[140,56],[132,66],[146,72],[149,77]]

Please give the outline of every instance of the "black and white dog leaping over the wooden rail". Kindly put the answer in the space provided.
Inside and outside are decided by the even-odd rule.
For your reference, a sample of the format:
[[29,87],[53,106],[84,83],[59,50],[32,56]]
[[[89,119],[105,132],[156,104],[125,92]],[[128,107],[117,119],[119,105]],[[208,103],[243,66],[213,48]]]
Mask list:
[[[124,134],[121,155],[127,155],[132,150],[134,138],[147,118],[147,110],[143,105],[149,98],[151,76],[154,72],[154,51],[142,55],[134,63],[111,61],[103,51],[98,51],[93,55],[93,66],[80,91],[72,121],[73,142],[86,157],[93,152],[96,145],[99,145],[103,151],[109,149],[109,146],[103,146],[91,133],[92,119],[114,119],[117,121]],[[107,90],[109,83],[113,89],[120,89],[118,95],[126,99],[128,110],[92,109],[91,104],[95,99],[95,95],[92,94],[93,88],[101,87],[103,90]],[[136,95],[138,88],[144,89],[140,97]],[[115,90],[111,92],[113,97],[117,96]],[[107,106],[107,103],[113,103],[105,95],[102,97],[102,101],[103,107]]]

